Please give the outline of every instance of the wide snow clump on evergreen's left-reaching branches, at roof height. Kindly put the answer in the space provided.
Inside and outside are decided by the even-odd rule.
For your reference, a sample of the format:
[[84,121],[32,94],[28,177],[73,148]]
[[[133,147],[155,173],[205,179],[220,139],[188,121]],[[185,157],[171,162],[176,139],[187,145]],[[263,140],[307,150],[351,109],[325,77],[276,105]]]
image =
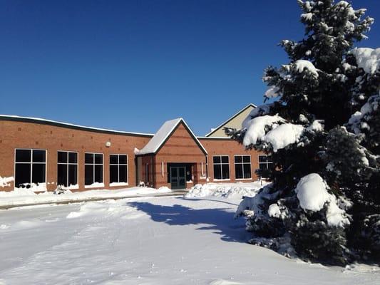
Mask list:
[[287,121],[276,115],[262,115],[251,118],[242,123],[242,128],[246,129],[243,145],[255,145],[257,142],[267,142],[272,145],[273,152],[277,152],[288,145],[299,142],[304,131],[309,133],[322,132],[324,127],[321,120],[314,120],[311,125],[297,125],[287,123]]

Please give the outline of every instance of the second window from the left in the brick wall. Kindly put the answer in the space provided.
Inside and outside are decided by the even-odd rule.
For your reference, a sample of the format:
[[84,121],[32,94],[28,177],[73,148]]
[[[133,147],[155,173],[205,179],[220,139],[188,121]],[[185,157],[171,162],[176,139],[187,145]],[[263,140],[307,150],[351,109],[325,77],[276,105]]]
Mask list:
[[78,153],[58,151],[57,185],[78,188]]

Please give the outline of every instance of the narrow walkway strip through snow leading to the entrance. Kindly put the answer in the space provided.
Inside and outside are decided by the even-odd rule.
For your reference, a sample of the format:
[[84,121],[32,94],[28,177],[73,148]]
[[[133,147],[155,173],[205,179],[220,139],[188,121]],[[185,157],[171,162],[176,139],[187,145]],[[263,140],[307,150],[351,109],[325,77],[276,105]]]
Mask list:
[[30,204],[9,204],[0,206],[1,209],[11,209],[16,207],[26,207],[26,206],[36,206],[42,204],[73,204],[73,203],[81,203],[81,202],[93,202],[93,201],[103,201],[103,200],[118,200],[118,199],[129,199],[129,198],[143,198],[143,197],[172,197],[172,196],[183,196],[188,193],[188,190],[175,190],[173,192],[165,192],[165,193],[150,193],[145,195],[133,195],[133,196],[120,196],[120,197],[89,197],[83,199],[66,199],[60,200],[56,202],[36,202]]

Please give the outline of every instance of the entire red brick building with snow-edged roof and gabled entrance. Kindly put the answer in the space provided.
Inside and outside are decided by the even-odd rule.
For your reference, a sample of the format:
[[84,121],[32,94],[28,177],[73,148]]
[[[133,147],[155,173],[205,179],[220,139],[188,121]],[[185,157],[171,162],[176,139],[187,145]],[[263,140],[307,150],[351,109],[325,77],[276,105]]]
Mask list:
[[[218,129],[236,124],[240,113]],[[36,192],[57,185],[75,191],[144,182],[180,189],[252,181],[255,170],[269,163],[266,155],[245,150],[230,138],[212,133],[197,137],[182,118],[146,134],[9,115],[0,115],[0,162],[0,177],[14,177],[0,190],[31,187]]]

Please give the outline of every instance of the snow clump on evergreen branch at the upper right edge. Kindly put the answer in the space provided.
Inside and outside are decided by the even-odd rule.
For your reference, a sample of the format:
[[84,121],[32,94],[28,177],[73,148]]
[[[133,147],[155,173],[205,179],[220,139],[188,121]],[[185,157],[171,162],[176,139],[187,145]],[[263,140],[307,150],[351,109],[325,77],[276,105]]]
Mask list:
[[356,58],[356,63],[366,73],[374,74],[380,68],[380,48],[354,48],[350,51]]

